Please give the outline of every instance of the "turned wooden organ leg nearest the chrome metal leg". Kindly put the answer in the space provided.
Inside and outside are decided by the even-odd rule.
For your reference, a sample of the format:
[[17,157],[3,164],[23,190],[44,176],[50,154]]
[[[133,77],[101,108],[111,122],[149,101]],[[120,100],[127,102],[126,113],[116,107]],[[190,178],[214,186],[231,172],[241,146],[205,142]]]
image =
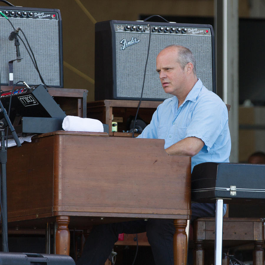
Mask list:
[[174,219],[174,265],[187,264],[188,237],[186,234],[186,219]]

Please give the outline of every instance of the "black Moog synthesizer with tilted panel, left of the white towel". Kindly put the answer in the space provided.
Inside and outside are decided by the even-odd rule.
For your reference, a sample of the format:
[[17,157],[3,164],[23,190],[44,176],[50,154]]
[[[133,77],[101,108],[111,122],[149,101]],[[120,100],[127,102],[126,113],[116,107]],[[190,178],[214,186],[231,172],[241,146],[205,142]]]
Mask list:
[[[12,91],[1,94],[1,102],[8,112]],[[11,98],[10,121],[15,124],[18,117],[64,118],[65,112],[42,86],[24,87],[14,90]]]

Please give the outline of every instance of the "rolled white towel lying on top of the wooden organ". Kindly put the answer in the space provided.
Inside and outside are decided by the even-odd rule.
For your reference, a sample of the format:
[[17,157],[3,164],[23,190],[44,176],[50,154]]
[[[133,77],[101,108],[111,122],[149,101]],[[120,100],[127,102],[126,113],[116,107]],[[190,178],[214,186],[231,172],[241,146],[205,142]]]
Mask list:
[[99,120],[80,118],[77,116],[66,116],[62,123],[65,131],[78,132],[103,132],[103,124]]

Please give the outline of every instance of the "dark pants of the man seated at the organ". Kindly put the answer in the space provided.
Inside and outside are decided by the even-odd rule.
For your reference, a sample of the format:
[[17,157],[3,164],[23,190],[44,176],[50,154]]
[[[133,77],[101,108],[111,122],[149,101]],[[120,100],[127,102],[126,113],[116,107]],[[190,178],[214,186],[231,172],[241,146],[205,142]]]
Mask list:
[[[192,220],[197,217],[215,215],[214,203],[192,203]],[[77,265],[104,265],[110,255],[118,235],[146,232],[151,245],[155,264],[174,265],[173,235],[175,227],[173,219],[148,219],[110,223],[94,226],[88,236],[81,258]]]

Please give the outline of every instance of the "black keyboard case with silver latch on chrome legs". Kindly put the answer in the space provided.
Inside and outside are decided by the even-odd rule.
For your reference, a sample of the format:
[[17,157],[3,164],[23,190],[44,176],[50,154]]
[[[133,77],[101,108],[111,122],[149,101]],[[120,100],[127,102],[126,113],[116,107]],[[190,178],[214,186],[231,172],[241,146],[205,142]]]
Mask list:
[[[265,203],[265,165],[206,162],[194,166],[191,174],[191,200],[226,203]],[[265,208],[265,204],[262,206]]]

